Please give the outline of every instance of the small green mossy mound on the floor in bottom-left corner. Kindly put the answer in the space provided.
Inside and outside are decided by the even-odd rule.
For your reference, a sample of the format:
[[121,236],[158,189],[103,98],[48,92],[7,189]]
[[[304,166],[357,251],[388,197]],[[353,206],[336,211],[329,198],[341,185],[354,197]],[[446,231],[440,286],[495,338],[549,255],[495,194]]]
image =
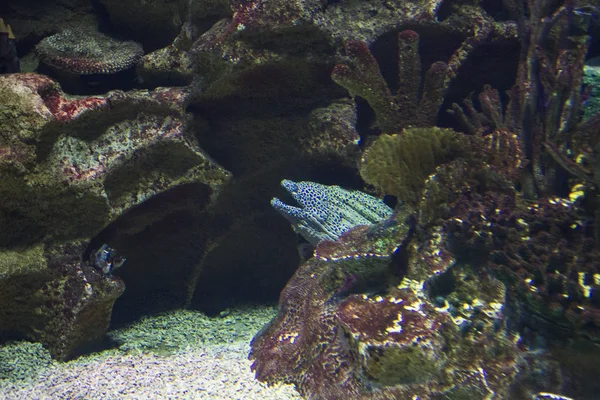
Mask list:
[[35,379],[51,361],[50,353],[40,343],[5,343],[0,346],[0,381]]

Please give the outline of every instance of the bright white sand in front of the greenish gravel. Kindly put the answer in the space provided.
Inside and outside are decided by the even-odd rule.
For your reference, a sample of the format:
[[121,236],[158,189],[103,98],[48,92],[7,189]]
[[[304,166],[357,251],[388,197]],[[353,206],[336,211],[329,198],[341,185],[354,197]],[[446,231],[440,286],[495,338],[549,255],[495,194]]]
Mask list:
[[291,385],[254,379],[247,344],[219,345],[171,356],[108,355],[55,364],[36,379],[0,387],[22,399],[300,399]]

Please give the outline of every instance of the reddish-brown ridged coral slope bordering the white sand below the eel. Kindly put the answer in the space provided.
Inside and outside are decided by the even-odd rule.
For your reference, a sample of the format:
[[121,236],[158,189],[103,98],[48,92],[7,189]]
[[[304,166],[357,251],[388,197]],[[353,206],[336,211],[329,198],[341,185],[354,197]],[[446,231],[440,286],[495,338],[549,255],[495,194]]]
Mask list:
[[[408,228],[397,233],[399,244]],[[258,379],[293,382],[305,396],[321,398],[349,397],[364,388],[356,380],[356,350],[345,344],[331,302],[346,281],[343,266],[313,258],[296,271],[281,294],[277,317],[252,341]]]

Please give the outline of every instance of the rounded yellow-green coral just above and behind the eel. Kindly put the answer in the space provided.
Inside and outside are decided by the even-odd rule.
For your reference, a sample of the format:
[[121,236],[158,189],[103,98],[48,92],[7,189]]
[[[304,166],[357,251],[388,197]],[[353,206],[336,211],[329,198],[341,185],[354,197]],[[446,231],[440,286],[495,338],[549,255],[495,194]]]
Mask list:
[[452,129],[409,128],[380,135],[364,152],[360,175],[383,193],[414,204],[435,168],[464,152],[466,138]]

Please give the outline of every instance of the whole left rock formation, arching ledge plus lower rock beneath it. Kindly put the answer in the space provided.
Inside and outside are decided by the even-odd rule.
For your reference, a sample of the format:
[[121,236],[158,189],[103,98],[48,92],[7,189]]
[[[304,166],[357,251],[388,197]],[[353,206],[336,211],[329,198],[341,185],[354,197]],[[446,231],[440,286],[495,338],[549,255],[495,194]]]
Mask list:
[[188,96],[70,97],[42,75],[0,77],[3,332],[41,341],[57,358],[76,354],[106,331],[124,288],[89,255],[115,226],[134,235],[211,203],[229,173],[190,135]]

